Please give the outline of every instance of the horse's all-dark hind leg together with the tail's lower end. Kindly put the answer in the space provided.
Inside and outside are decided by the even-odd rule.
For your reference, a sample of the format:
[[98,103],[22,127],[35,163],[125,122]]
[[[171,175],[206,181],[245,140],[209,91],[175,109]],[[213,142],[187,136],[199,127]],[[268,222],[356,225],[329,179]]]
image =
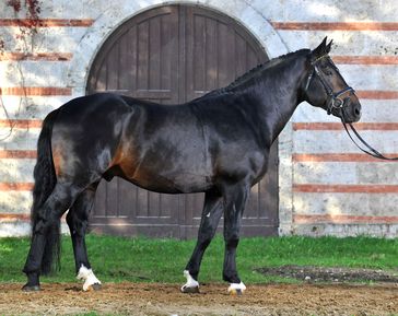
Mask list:
[[54,256],[59,259],[60,218],[77,195],[68,185],[57,184],[33,221],[31,249],[23,271],[27,276],[24,291],[39,290],[39,274],[48,273]]

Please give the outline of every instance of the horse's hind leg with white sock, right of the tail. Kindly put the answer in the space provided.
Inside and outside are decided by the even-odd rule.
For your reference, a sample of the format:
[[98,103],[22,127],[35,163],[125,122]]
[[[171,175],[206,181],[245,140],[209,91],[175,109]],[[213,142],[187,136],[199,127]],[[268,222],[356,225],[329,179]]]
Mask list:
[[67,223],[72,237],[78,279],[84,281],[83,291],[101,289],[101,281],[95,277],[91,269],[85,247],[85,231],[87,229],[89,215],[94,203],[97,186],[98,183],[95,183],[81,192],[67,214]]

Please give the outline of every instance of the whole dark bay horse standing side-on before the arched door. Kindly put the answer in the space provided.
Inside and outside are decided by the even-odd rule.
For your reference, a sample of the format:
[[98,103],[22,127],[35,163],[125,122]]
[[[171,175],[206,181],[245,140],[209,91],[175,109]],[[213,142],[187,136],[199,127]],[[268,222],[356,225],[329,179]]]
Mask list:
[[163,106],[103,93],[74,98],[44,120],[34,169],[32,244],[23,271],[26,291],[59,260],[61,215],[73,243],[83,289],[97,289],[84,242],[102,178],[122,177],[165,192],[204,192],[197,245],[183,292],[198,291],[203,253],[224,215],[223,279],[242,293],[235,264],[242,214],[250,187],[267,172],[272,142],[304,101],[358,121],[358,97],[328,56],[326,38],[314,50],[272,59],[224,89],[186,104]]

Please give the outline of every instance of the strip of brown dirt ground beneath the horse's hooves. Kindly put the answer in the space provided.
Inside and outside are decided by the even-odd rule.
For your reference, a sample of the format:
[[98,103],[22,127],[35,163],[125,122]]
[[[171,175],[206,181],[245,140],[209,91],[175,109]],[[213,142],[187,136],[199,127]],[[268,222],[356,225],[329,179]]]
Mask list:
[[398,285],[391,283],[247,285],[243,296],[231,296],[226,284],[183,294],[179,285],[159,283],[106,283],[96,292],[44,283],[35,293],[0,283],[0,315],[398,315]]

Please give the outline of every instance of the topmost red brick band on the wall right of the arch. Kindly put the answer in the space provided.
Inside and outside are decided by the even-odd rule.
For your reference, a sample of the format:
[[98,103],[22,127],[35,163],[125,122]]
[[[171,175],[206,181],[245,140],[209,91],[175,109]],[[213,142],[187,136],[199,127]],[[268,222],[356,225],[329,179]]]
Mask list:
[[398,31],[397,22],[271,22],[286,31]]

